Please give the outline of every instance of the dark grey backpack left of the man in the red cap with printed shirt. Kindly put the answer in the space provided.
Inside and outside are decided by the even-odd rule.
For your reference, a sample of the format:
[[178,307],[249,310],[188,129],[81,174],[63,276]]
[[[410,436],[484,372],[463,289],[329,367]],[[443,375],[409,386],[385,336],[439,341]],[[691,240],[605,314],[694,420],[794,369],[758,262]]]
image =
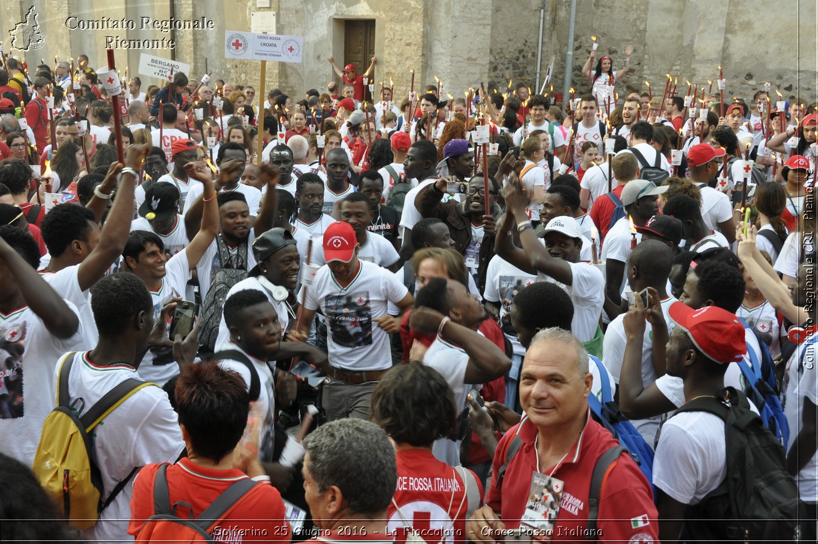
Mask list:
[[218,338],[218,325],[222,322],[222,311],[224,301],[227,299],[227,292],[230,288],[239,283],[242,279],[247,279],[247,243],[239,244],[239,258],[244,263],[244,269],[230,268],[230,252],[227,245],[222,241],[221,235],[216,237],[216,247],[218,255],[222,261],[222,268],[213,275],[213,281],[205,295],[201,312],[201,331],[199,333],[199,343],[207,349],[216,349],[216,338]]

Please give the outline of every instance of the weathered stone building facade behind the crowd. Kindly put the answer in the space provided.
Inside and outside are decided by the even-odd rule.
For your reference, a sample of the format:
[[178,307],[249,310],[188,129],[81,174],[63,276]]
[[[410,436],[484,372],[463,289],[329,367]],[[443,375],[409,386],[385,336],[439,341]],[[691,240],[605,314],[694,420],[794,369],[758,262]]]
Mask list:
[[[599,52],[613,57],[615,69],[622,67],[627,44],[634,46],[631,73],[618,86],[620,91],[627,87],[647,90],[647,79],[654,94],[661,94],[667,73],[678,75],[684,90],[685,79],[700,85],[717,79],[721,65],[727,79],[725,96],[749,97],[764,81],[770,81],[785,96],[814,102],[818,89],[816,2],[784,3],[792,4],[791,8],[769,0],[577,0],[574,59],[569,70],[573,86],[578,92],[587,89],[580,69],[591,50],[591,34],[596,34]],[[481,82],[503,89],[509,79],[534,87],[542,12],[541,75],[545,76],[552,55],[555,91],[562,88],[566,73],[569,0],[6,0],[0,2],[6,52],[9,30],[25,19],[31,6],[37,8],[46,43],[35,51],[15,52],[25,56],[29,66],[36,66],[40,58],[50,64],[55,56],[64,59],[80,53],[88,54],[92,67],[105,65],[104,45],[109,35],[120,39],[173,37],[173,51],[147,52],[167,58],[173,55],[191,64],[191,79],[200,79],[206,64],[214,78],[258,88],[258,61],[226,59],[224,32],[266,30],[303,36],[303,64],[267,66],[267,88],[281,88],[296,97],[306,88],[323,89],[327,81],[338,79],[327,58],[335,57],[336,64],[343,66],[353,49],[361,48],[361,43],[351,43],[360,36],[351,35],[350,29],[365,23],[371,32],[366,48],[378,58],[373,76],[376,88],[380,81],[392,79],[398,95],[406,95],[410,70],[415,70],[416,90],[434,83],[435,75],[444,93],[459,94]],[[133,20],[137,28],[70,30],[65,25],[69,16]],[[141,29],[143,16],[160,20],[206,16],[215,28],[163,34]],[[139,54],[139,50],[118,49],[119,69],[127,67],[128,75],[133,75]],[[364,65],[362,71],[368,59],[359,64]],[[159,82],[146,79],[145,83]]]

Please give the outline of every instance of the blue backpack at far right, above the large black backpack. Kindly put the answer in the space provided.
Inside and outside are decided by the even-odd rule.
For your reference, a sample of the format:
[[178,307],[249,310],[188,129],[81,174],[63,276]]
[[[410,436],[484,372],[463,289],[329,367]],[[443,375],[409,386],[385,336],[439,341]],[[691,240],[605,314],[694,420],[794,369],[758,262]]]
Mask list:
[[[745,328],[749,329],[749,325],[739,318]],[[752,329],[751,329],[752,330]],[[755,333],[755,331],[753,331]],[[784,415],[784,409],[781,407],[781,401],[776,392],[775,372],[772,362],[770,350],[767,349],[766,343],[756,337],[758,346],[762,350],[762,360],[759,361],[756,352],[753,348],[747,346],[747,354],[750,357],[750,363],[753,368],[744,360],[739,360],[739,369],[744,379],[747,381],[749,390],[747,397],[756,405],[759,415],[761,415],[764,426],[770,429],[775,439],[778,440],[783,447],[787,447],[787,440],[789,438],[789,425],[787,418]]]

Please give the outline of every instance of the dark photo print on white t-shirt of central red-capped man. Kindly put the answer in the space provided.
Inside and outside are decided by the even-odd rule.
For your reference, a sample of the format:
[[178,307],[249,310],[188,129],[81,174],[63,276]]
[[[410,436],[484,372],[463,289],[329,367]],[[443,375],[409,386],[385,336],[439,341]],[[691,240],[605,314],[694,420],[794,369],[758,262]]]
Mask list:
[[326,297],[326,320],[332,340],[343,347],[372,345],[369,291]]

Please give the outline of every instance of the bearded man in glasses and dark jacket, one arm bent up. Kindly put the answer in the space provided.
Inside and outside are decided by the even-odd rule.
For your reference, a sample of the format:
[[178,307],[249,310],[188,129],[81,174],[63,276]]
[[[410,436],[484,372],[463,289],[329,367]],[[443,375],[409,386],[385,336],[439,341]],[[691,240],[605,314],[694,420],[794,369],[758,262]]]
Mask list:
[[[420,215],[425,218],[435,217],[448,225],[452,240],[455,241],[455,249],[463,254],[465,265],[478,285],[481,283],[479,278],[485,279],[485,270],[493,255],[496,217],[501,212],[497,205],[497,194],[500,191],[497,180],[488,176],[490,184],[487,191],[484,179],[482,172],[470,179],[463,202],[442,200],[447,193],[449,180],[459,181],[456,176],[438,179],[434,184],[421,189],[417,195]],[[486,198],[491,203],[491,215],[485,215]]]

